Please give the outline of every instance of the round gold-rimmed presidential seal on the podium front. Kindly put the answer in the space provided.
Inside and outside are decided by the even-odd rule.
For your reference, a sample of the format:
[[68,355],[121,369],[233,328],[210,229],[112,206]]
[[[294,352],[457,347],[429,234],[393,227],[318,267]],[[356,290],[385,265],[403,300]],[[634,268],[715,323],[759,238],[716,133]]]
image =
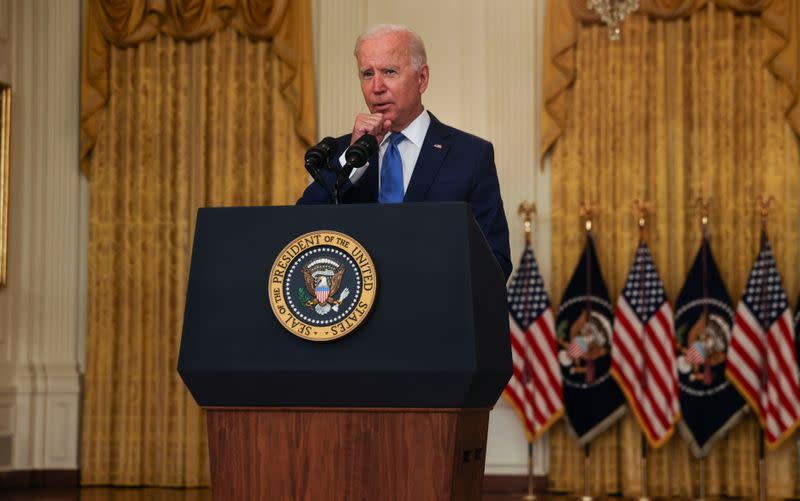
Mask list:
[[330,341],[353,332],[375,303],[375,267],[364,247],[315,231],[283,248],[269,273],[269,304],[292,334]]

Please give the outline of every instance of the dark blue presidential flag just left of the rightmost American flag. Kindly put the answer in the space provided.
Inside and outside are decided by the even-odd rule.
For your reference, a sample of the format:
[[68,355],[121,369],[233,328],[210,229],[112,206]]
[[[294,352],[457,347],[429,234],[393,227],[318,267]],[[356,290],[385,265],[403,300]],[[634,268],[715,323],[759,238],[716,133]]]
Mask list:
[[733,427],[746,403],[725,377],[733,303],[706,237],[675,303],[681,434],[702,458]]

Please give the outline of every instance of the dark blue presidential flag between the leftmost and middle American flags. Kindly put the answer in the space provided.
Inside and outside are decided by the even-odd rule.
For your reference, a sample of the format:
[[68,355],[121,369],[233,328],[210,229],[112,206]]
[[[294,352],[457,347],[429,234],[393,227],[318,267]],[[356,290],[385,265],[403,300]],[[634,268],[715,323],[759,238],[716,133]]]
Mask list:
[[613,321],[594,237],[588,232],[556,316],[564,407],[581,446],[625,414],[625,397],[609,373]]

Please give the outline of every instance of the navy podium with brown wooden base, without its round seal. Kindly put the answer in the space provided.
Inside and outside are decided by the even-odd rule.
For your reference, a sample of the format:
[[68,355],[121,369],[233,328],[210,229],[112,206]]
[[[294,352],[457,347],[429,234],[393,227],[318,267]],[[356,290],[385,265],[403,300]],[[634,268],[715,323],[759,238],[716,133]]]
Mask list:
[[[325,342],[268,292],[316,231],[363,246],[377,286]],[[465,203],[200,209],[178,372],[207,411],[215,501],[480,500],[511,376],[503,272]]]

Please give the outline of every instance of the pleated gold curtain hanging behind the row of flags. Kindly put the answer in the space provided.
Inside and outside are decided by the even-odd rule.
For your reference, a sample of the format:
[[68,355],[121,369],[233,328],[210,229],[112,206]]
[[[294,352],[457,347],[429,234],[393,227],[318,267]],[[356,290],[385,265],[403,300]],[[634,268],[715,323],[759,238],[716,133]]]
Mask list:
[[[599,258],[616,299],[638,241],[632,209],[638,198],[650,203],[647,238],[674,300],[700,244],[695,201],[702,196],[711,197],[712,248],[738,300],[758,250],[754,203],[760,194],[777,202],[768,231],[784,286],[792,302],[797,297],[796,77],[787,80],[765,64],[775,62],[776,50],[786,50],[786,40],[757,15],[782,2],[743,2],[756,14],[726,5],[733,3],[643,0],[645,15],[625,20],[620,42],[610,42],[603,25],[582,23],[575,24],[570,45],[548,25],[550,60],[560,58],[567,70],[561,74],[571,82],[557,99],[564,112],[559,133],[545,131],[542,138],[558,139],[552,150],[554,297],[561,296],[583,245],[580,204],[593,201],[600,207]],[[657,16],[647,10],[656,4],[684,10]],[[566,15],[565,3],[551,5]],[[796,9],[790,12],[795,25]],[[759,433],[748,416],[714,447],[706,461],[709,494],[755,498]],[[550,444],[551,487],[581,491],[582,451],[563,423]],[[595,494],[640,494],[640,430],[630,415],[593,442],[590,457]],[[691,496],[698,465],[676,434],[649,454],[648,493]],[[793,440],[768,453],[767,467],[771,496],[796,494]]]

